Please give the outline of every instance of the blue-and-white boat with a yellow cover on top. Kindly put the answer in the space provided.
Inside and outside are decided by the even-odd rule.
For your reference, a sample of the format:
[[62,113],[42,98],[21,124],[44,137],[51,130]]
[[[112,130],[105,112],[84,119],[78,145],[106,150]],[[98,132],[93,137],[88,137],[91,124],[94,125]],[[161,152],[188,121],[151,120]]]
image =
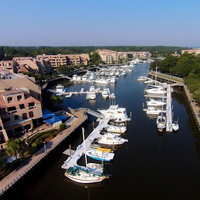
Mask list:
[[95,160],[101,160],[101,161],[110,161],[113,159],[114,153],[105,152],[100,149],[101,148],[90,149],[90,150],[86,151],[86,155],[90,158],[93,158]]

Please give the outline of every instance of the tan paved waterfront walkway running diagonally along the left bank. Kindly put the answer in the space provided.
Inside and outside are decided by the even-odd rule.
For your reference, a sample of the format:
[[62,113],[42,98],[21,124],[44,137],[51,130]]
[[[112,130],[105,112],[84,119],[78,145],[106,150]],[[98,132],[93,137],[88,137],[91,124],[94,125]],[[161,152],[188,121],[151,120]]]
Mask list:
[[7,189],[9,189],[14,183],[16,183],[22,176],[24,176],[30,169],[32,169],[38,162],[40,162],[48,153],[53,150],[60,142],[62,142],[66,137],[68,137],[76,128],[83,124],[87,116],[84,115],[84,110],[78,110],[74,112],[72,110],[72,117],[70,121],[70,127],[65,129],[61,134],[58,134],[44,147],[36,152],[31,158],[25,161],[16,170],[6,176],[0,181],[0,195],[2,195]]

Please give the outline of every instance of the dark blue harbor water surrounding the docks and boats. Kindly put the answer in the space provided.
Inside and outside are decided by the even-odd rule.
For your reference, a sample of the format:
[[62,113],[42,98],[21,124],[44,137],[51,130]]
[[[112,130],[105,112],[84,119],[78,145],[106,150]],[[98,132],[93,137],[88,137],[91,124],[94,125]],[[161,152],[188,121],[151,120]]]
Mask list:
[[[86,100],[86,95],[63,97],[63,103],[55,109],[67,107],[108,108],[111,104],[125,107],[132,113],[127,123],[128,139],[122,148],[115,151],[112,162],[105,163],[111,176],[98,184],[78,184],[64,176],[61,165],[67,159],[62,151],[69,141],[62,144],[29,175],[10,189],[3,198],[29,200],[121,200],[121,199],[200,199],[200,136],[195,128],[190,110],[182,93],[172,94],[174,119],[179,119],[180,129],[176,133],[158,133],[155,119],[143,112],[144,83],[137,82],[139,76],[146,76],[149,64],[138,64],[126,77],[120,77],[116,84],[107,85],[116,99],[103,100],[101,94],[96,100]],[[61,84],[64,84],[62,82]],[[88,90],[89,83],[69,83],[68,91]],[[101,87],[101,85],[94,85]],[[54,86],[55,88],[55,86]],[[87,134],[92,123],[85,125]],[[70,140],[75,149],[82,143],[80,134]],[[2,199],[3,199],[2,198]]]

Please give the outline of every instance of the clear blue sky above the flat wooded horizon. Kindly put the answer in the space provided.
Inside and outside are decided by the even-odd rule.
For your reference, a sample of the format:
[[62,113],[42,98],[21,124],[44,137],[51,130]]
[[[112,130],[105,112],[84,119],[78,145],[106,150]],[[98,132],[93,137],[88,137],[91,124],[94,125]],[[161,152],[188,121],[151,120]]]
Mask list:
[[0,0],[0,46],[200,46],[200,0]]

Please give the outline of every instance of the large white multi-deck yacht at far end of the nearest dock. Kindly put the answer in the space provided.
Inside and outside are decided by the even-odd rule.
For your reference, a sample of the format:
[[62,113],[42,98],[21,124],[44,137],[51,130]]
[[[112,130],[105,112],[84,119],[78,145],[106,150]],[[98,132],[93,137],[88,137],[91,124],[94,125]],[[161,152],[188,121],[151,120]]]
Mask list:
[[97,109],[105,117],[111,119],[127,119],[126,108],[120,108],[118,105],[111,105],[108,109]]

